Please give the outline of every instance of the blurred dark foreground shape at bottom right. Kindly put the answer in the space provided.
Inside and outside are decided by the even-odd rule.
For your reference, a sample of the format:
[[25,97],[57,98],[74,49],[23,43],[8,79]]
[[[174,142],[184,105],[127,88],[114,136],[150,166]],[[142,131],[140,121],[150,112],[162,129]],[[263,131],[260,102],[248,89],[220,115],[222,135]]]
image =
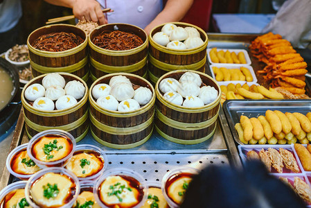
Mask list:
[[195,176],[181,208],[300,208],[305,203],[290,187],[269,175],[264,164],[249,162],[244,170],[207,166]]

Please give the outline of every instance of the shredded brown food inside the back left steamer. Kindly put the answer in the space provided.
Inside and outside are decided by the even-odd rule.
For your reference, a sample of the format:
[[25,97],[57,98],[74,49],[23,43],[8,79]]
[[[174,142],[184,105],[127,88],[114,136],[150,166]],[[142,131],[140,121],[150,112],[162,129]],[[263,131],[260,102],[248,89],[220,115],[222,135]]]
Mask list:
[[35,49],[41,51],[59,52],[73,49],[82,44],[84,40],[73,33],[48,33],[39,36],[32,44]]

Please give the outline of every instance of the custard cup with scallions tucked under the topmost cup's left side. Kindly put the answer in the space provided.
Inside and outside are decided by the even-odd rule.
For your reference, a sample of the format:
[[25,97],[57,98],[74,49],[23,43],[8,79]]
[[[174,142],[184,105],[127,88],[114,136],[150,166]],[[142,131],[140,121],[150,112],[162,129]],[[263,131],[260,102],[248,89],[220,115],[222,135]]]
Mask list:
[[39,166],[28,156],[27,146],[28,143],[17,146],[6,158],[6,168],[20,180],[28,180],[29,177],[40,170]]

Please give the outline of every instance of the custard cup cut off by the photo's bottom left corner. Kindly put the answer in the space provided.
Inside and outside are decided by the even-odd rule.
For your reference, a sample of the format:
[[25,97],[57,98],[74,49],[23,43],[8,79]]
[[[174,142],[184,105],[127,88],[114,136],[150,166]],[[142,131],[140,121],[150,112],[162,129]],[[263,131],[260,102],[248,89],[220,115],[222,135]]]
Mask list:
[[16,202],[16,200],[25,207],[28,207],[28,202],[25,198],[25,187],[26,181],[19,181],[9,184],[7,187],[0,191],[0,207],[6,207],[7,204],[10,206],[10,200]]

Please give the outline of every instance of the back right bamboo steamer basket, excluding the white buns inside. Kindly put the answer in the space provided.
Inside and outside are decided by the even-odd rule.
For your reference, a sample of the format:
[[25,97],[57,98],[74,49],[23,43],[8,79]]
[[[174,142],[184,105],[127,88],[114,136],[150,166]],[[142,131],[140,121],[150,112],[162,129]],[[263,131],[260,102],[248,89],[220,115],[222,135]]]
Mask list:
[[208,44],[208,37],[206,33],[193,24],[188,24],[184,22],[172,22],[176,26],[180,27],[193,27],[199,31],[199,34],[204,42],[202,46],[199,46],[194,49],[186,50],[175,50],[168,49],[166,46],[161,46],[153,40],[153,35],[161,31],[161,28],[165,24],[160,24],[150,31],[149,34],[149,63],[148,76],[153,84],[157,83],[157,80],[163,76],[163,74],[170,71],[188,69],[194,71],[205,72],[205,63],[206,63],[206,48]]

